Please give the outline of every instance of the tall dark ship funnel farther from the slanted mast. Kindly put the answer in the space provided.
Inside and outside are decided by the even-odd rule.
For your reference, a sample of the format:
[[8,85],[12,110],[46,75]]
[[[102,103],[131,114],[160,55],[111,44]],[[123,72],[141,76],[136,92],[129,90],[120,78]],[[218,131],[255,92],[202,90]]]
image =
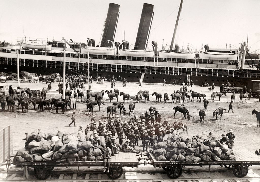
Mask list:
[[111,42],[114,42],[116,25],[119,16],[119,7],[120,5],[109,3],[108,11],[107,11],[107,19],[105,23],[105,28],[103,30],[103,36],[100,47],[111,47]]

